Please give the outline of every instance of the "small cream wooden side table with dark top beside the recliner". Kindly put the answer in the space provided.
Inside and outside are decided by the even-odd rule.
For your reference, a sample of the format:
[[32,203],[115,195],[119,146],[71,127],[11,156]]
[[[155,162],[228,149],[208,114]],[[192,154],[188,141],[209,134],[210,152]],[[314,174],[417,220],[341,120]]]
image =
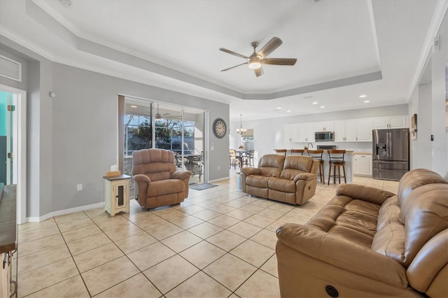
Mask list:
[[129,213],[129,187],[131,176],[104,176],[105,209],[111,216],[120,211]]

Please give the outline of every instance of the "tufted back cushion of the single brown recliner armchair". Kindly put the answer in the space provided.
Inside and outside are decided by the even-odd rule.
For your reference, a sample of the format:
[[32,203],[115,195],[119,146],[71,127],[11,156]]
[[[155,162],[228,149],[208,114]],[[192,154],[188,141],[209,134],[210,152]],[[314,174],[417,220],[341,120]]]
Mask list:
[[132,175],[144,174],[151,181],[169,179],[176,171],[174,153],[165,149],[143,149],[132,153]]

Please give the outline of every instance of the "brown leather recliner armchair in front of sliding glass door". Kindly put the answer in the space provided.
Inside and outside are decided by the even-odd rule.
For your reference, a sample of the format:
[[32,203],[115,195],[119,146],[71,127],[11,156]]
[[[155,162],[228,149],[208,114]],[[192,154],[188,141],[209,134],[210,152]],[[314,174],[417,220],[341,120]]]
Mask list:
[[188,197],[190,171],[176,171],[174,153],[143,149],[132,153],[132,178],[140,206],[179,204]]

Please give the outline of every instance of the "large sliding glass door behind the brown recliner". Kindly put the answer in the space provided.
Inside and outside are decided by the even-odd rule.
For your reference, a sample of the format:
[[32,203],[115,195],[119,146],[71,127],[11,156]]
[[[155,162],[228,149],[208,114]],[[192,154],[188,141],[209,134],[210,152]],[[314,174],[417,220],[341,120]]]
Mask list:
[[132,152],[144,148],[171,150],[178,169],[193,173],[190,183],[204,183],[205,111],[172,104],[125,98],[123,173],[132,171]]

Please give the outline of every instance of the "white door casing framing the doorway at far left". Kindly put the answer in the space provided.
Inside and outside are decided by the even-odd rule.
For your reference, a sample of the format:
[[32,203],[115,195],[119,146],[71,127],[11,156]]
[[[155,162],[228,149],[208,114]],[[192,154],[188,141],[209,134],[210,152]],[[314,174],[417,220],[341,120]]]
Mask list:
[[27,92],[0,84],[0,90],[18,94],[18,187],[17,222],[22,224],[27,218]]

